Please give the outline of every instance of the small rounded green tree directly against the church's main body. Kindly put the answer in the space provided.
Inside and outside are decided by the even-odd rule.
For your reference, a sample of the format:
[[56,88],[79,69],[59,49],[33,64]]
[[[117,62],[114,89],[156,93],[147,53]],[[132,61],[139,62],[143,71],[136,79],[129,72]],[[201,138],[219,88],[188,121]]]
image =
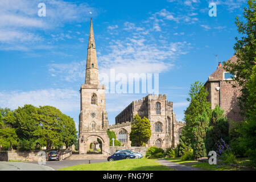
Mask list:
[[143,143],[151,137],[151,125],[146,117],[141,119],[138,114],[136,114],[131,121],[131,133],[130,140],[131,146],[142,146]]

